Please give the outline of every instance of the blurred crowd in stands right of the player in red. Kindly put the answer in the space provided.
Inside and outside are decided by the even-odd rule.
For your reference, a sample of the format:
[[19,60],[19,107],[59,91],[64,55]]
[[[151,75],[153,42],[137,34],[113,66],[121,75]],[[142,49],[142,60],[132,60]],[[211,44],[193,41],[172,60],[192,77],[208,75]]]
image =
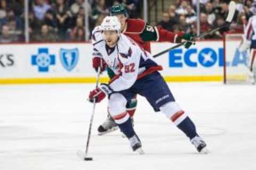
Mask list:
[[[228,15],[228,5],[230,1],[223,0],[199,0],[199,20],[200,33],[214,29],[225,23]],[[162,21],[157,25],[164,29],[178,32],[185,31],[196,35],[197,33],[197,14],[196,0],[178,0],[176,5],[171,5],[168,11],[163,12]],[[214,32],[205,39],[219,39],[224,32],[243,33],[249,18],[256,14],[256,2],[253,0],[236,1],[236,11],[234,22],[230,27]]]

